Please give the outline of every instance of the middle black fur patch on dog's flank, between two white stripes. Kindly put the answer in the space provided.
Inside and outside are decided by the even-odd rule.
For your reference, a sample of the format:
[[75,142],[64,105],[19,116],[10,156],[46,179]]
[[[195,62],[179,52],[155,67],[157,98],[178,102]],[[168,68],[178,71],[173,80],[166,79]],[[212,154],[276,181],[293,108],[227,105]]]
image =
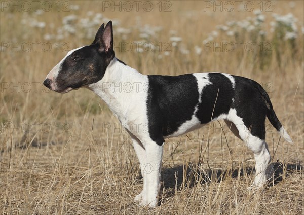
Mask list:
[[209,73],[208,78],[211,84],[204,85],[201,103],[196,112],[196,117],[202,124],[221,114],[228,114],[233,105],[234,89],[230,79],[220,73]]

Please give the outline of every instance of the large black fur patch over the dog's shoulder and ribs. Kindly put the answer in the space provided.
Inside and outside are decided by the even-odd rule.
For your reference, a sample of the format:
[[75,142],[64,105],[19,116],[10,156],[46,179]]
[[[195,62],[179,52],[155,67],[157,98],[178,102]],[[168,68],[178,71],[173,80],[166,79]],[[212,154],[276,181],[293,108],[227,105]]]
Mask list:
[[191,120],[198,103],[197,80],[192,74],[181,76],[150,75],[147,115],[149,134],[158,145],[178,130],[181,124]]

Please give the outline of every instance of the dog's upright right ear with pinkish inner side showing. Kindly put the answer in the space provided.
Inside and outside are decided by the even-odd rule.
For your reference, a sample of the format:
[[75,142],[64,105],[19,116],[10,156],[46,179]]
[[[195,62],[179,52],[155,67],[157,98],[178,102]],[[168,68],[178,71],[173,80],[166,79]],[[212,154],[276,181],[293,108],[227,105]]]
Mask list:
[[113,26],[112,21],[109,21],[102,31],[101,38],[99,39],[99,52],[108,53],[113,49]]

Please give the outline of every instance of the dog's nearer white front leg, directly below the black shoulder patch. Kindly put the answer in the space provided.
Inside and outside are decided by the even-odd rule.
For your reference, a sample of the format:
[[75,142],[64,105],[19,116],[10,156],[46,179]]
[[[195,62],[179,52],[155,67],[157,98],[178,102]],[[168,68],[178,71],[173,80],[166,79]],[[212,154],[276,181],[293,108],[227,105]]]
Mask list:
[[143,167],[144,193],[140,205],[156,207],[161,188],[161,168],[163,145],[148,142],[144,145],[146,151],[146,164]]

